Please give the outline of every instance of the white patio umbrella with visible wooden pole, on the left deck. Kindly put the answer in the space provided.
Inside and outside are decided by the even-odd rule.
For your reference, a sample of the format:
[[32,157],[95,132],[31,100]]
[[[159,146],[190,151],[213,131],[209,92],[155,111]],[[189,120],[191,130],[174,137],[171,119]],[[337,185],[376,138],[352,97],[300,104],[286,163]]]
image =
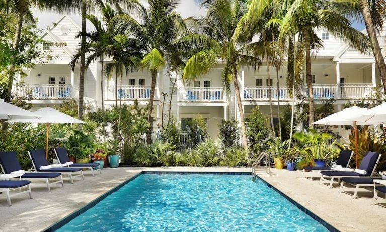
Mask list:
[[79,119],[75,119],[70,115],[59,112],[53,108],[41,108],[36,110],[36,113],[40,118],[38,119],[12,119],[6,121],[7,123],[45,123],[46,124],[46,159],[48,159],[48,132],[50,123],[85,123]]

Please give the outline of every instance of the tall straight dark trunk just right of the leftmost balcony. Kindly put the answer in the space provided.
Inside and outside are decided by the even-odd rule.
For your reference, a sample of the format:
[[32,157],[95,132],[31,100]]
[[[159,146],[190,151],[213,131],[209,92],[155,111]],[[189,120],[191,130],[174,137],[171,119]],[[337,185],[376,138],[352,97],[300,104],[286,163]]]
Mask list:
[[[79,74],[79,106],[78,106],[78,119],[83,119],[84,111],[84,93],[85,93],[85,57],[86,57],[86,0],[82,1],[81,6],[82,14],[82,37],[81,37],[81,73]],[[78,124],[78,129],[82,129],[82,124]]]

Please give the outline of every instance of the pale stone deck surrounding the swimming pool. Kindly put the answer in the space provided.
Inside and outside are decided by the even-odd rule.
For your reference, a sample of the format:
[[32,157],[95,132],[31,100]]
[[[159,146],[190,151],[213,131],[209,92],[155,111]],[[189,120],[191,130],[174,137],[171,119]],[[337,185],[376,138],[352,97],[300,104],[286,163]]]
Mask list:
[[[250,172],[250,168],[193,168],[193,167],[120,167],[106,168],[102,175],[92,177],[86,171],[85,181],[65,181],[65,187],[51,186],[51,192],[42,181],[31,184],[32,197],[27,194],[12,197],[8,207],[5,196],[0,194],[0,231],[42,231],[72,212],[103,195],[117,185],[142,171],[173,172]],[[310,181],[300,171],[272,170],[272,176],[260,175],[262,179],[291,197],[327,223],[340,231],[386,231],[384,213],[386,204],[371,205],[372,192],[358,193],[352,199],[353,188],[329,189],[326,182]],[[337,186],[337,185],[335,185]],[[386,202],[386,200],[378,200]]]

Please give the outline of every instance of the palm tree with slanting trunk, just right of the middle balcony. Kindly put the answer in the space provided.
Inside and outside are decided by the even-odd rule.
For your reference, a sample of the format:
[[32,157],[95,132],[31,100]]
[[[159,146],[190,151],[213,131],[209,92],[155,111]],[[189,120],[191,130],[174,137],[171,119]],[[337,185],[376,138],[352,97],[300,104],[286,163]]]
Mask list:
[[241,103],[238,83],[238,68],[242,65],[256,68],[261,60],[250,50],[251,40],[244,40],[247,36],[236,38],[236,28],[239,20],[247,12],[242,1],[207,0],[202,3],[208,12],[200,19],[198,33],[187,35],[179,39],[179,44],[190,47],[190,56],[183,71],[185,80],[195,79],[209,72],[218,61],[222,61],[222,82],[224,88],[230,89],[233,82],[236,101],[240,113],[241,134],[243,146],[247,147],[244,111]]

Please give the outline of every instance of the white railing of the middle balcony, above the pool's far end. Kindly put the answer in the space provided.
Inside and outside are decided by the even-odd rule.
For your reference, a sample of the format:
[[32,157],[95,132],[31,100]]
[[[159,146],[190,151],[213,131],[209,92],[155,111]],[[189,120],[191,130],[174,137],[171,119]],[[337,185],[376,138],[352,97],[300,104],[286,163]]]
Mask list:
[[181,88],[179,101],[225,101],[222,88]]

